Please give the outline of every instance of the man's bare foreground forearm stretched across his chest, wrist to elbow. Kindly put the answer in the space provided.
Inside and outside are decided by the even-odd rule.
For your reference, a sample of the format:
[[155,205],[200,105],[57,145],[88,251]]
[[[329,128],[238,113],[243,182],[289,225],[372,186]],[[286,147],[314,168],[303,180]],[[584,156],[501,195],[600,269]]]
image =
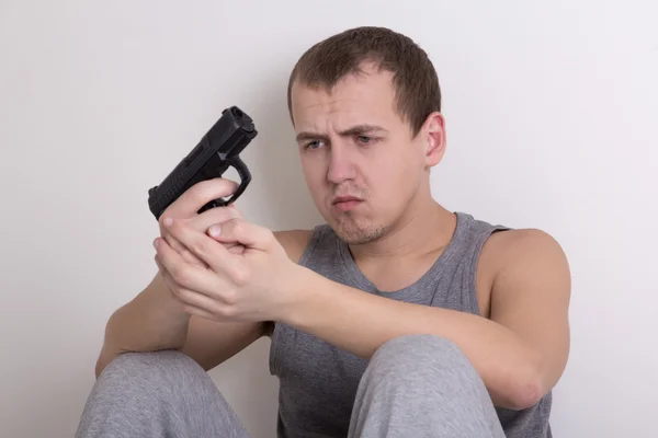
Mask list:
[[385,342],[405,334],[434,334],[455,343],[483,378],[494,403],[523,408],[544,388],[540,359],[514,332],[485,318],[411,304],[362,292],[316,273],[300,273],[304,291],[286,323],[370,358]]

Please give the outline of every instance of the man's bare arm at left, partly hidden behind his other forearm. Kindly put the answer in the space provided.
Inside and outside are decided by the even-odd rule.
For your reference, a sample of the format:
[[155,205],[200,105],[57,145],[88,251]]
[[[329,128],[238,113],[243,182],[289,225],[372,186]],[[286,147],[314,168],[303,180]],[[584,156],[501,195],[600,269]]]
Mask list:
[[[309,232],[279,231],[275,238],[297,263]],[[95,376],[117,355],[128,351],[179,349],[206,371],[228,360],[265,335],[264,322],[217,322],[181,309],[160,274],[133,300],[117,309],[105,327]]]

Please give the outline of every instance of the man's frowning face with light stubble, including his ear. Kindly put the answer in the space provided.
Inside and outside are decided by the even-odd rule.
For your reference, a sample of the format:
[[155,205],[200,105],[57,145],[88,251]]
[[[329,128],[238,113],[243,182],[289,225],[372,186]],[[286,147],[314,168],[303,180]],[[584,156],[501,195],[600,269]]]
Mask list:
[[292,96],[310,195],[351,244],[376,240],[413,215],[416,195],[443,150],[442,117],[434,115],[411,138],[395,107],[392,74],[366,72],[343,78],[330,94],[295,83]]

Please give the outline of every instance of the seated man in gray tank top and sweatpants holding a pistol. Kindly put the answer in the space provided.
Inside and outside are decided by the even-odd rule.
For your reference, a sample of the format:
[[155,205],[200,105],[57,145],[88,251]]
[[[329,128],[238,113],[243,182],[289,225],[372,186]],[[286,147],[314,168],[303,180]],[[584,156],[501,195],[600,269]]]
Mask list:
[[78,436],[246,437],[206,372],[261,336],[280,437],[551,437],[569,349],[569,268],[540,230],[451,212],[432,64],[360,27],[311,47],[288,87],[327,223],[271,232],[197,184],[160,219],[152,283],[110,319]]

